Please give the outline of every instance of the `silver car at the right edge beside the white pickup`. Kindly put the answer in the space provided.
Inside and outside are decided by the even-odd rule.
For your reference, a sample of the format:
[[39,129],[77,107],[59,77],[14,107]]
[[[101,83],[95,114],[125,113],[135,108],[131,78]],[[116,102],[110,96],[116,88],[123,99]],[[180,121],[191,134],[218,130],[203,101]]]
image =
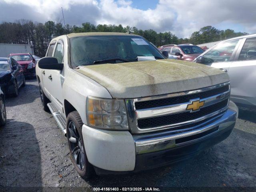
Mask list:
[[240,106],[256,107],[256,34],[220,42],[196,62],[228,72],[231,100]]

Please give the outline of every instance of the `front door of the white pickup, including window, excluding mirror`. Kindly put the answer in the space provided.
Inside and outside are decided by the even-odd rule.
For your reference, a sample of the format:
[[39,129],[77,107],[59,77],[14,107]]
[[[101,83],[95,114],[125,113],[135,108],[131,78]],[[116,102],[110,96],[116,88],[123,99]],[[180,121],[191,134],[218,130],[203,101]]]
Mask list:
[[[58,40],[55,48],[54,54],[58,60],[58,63],[63,63],[64,61],[64,43],[62,40]],[[63,70],[48,70],[48,82],[50,83],[49,92],[50,100],[54,106],[63,114],[63,96],[62,96],[62,84],[64,82],[64,68]]]

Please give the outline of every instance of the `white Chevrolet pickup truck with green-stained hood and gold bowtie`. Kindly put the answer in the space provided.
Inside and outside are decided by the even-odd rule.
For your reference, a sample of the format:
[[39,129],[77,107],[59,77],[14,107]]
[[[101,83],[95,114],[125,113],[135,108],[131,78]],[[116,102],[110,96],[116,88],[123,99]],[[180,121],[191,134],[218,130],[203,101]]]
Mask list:
[[82,178],[166,166],[232,132],[238,109],[228,75],[163,54],[134,34],[50,42],[36,66],[42,106],[66,135]]

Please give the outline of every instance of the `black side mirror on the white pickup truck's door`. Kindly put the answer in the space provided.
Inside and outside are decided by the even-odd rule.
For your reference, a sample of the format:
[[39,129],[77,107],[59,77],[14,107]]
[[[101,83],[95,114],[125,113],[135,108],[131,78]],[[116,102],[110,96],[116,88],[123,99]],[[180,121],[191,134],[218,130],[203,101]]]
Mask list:
[[38,67],[41,69],[62,70],[63,63],[58,63],[55,57],[43,57],[38,61]]

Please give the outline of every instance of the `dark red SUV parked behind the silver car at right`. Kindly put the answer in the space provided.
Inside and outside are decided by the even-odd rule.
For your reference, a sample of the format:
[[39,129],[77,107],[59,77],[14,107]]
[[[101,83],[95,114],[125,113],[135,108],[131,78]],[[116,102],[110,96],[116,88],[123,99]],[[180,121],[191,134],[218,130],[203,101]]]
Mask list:
[[159,48],[161,52],[167,51],[170,56],[178,60],[193,61],[196,57],[204,52],[204,50],[193,44],[170,44],[164,45]]

